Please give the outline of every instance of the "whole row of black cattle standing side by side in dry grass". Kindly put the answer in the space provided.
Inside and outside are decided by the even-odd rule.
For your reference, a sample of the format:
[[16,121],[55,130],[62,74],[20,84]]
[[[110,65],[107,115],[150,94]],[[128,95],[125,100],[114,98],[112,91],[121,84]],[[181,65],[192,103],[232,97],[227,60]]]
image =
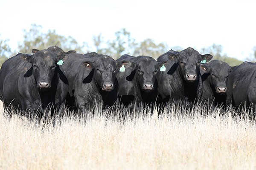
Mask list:
[[[117,60],[97,54],[64,52],[57,46],[19,53],[0,70],[0,99],[20,111],[87,111],[122,105],[172,105],[206,102],[253,106],[256,110],[256,63],[230,67],[193,48],[159,56],[123,55]],[[210,61],[210,62],[209,62]]]

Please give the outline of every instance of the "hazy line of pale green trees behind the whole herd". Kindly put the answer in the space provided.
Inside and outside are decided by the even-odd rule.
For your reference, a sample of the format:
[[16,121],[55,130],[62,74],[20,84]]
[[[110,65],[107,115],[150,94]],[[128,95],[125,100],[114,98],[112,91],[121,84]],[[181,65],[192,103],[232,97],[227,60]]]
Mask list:
[[[80,45],[73,37],[59,35],[55,30],[43,32],[41,29],[42,26],[36,24],[31,24],[31,28],[28,30],[24,29],[23,42],[19,42],[18,48],[14,51],[8,45],[9,40],[2,40],[0,37],[0,66],[6,59],[16,55],[18,52],[31,54],[31,49],[33,48],[41,50],[53,45],[61,47],[64,51],[76,50],[81,54],[96,51],[99,54],[109,55],[114,59],[119,58],[123,54],[145,55],[156,59],[171,48],[175,51],[183,50],[180,46],[169,47],[166,42],[157,44],[150,38],[137,42],[125,28],[116,31],[113,40],[105,41],[102,34],[94,35],[93,47],[90,47],[87,42],[83,42]],[[209,47],[202,48],[199,52],[212,54],[214,59],[227,62],[231,66],[241,64],[242,61],[228,57],[227,54],[222,54],[222,48],[221,45],[212,44]],[[248,58],[248,60],[254,61],[256,59],[256,46],[253,48],[253,51],[253,59]]]

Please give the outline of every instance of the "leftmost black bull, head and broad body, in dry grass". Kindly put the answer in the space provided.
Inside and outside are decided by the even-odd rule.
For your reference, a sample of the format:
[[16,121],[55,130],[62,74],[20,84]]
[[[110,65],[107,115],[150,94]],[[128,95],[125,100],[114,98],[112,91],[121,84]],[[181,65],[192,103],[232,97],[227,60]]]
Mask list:
[[67,81],[56,65],[68,57],[49,50],[35,54],[17,54],[3,63],[0,70],[0,95],[5,106],[44,113],[58,111],[67,95]]

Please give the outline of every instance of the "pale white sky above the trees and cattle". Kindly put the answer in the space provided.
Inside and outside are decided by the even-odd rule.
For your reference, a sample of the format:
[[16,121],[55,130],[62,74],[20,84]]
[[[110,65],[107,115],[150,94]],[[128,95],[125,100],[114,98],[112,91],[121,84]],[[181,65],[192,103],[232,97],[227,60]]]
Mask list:
[[0,0],[0,16],[0,38],[12,50],[31,23],[89,46],[93,35],[112,40],[121,28],[137,42],[151,38],[198,51],[221,44],[240,60],[256,46],[256,0]]

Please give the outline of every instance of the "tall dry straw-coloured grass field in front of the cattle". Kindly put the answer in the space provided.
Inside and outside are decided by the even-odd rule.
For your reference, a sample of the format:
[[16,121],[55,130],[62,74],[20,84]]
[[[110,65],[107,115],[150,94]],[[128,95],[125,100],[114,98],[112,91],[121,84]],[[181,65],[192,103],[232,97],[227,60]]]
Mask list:
[[28,120],[0,108],[0,169],[256,169],[256,124],[218,108]]

